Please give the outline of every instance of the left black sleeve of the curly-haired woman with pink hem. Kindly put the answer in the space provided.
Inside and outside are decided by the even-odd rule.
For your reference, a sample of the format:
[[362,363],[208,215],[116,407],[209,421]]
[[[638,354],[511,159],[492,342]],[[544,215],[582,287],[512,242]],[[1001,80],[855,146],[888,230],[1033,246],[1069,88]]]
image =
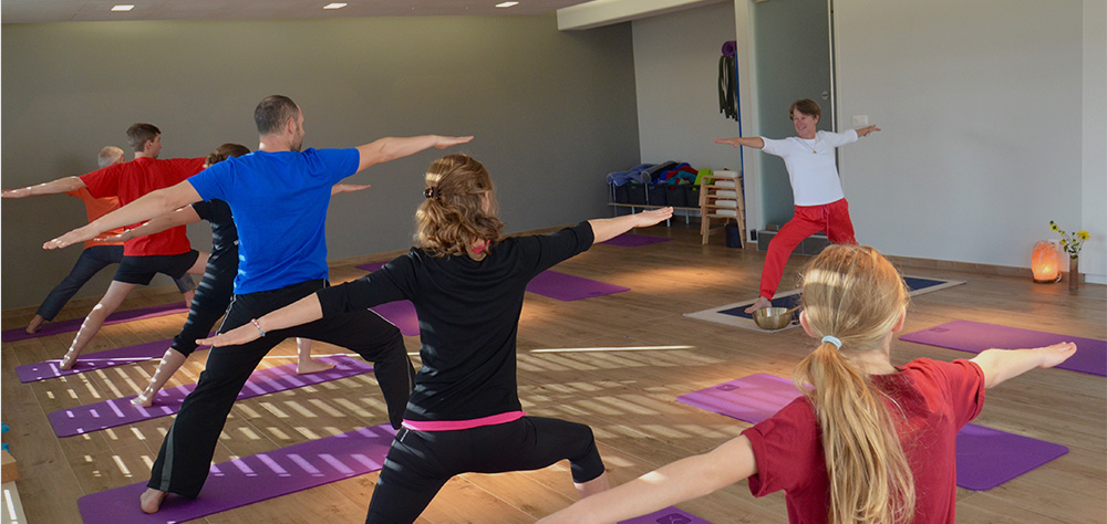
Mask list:
[[412,258],[400,256],[361,279],[315,292],[323,317],[365,310],[389,302],[410,300],[414,294]]

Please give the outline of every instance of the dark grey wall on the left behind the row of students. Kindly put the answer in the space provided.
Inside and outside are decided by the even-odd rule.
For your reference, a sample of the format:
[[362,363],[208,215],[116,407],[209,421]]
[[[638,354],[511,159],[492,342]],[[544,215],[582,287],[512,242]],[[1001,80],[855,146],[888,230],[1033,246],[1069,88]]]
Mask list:
[[[475,135],[461,150],[493,174],[510,231],[573,222],[607,214],[603,175],[639,160],[631,46],[629,24],[560,33],[552,14],[6,24],[2,185],[90,171],[134,122],[162,128],[164,158],[255,148],[254,107],[281,93],[304,111],[306,146]],[[410,245],[439,154],[352,177],[373,188],[332,201],[330,259]],[[0,307],[34,305],[61,280],[79,249],[39,247],[83,218],[64,196],[3,201]]]

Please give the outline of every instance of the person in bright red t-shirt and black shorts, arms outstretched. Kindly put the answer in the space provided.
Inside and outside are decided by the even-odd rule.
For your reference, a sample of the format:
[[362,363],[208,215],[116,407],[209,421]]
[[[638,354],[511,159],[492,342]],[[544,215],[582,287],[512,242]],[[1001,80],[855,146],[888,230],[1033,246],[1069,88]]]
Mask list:
[[[33,187],[3,191],[3,196],[13,198],[51,195],[87,188],[94,198],[116,197],[120,206],[126,206],[151,191],[179,184],[204,169],[203,157],[159,160],[157,156],[162,151],[162,132],[152,124],[132,125],[127,129],[127,140],[135,151],[135,159],[132,161],[107,166],[80,177],[65,177]],[[89,313],[60,367],[70,369],[76,364],[76,357],[100,332],[104,319],[115,312],[135,286],[149,284],[157,273],[173,279],[186,273],[204,274],[206,264],[207,253],[198,253],[192,249],[184,226],[126,240],[123,244],[123,261],[120,262],[112,284]],[[192,292],[186,293],[185,298],[186,302],[190,301]]]

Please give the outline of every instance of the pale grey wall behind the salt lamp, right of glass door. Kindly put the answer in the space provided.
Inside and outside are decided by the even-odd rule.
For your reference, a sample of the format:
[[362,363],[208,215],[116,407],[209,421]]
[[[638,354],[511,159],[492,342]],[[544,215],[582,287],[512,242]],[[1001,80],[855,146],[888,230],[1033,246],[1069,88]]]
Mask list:
[[1026,268],[1035,241],[1058,238],[1056,220],[1093,233],[1082,270],[1103,282],[1107,137],[1086,124],[1104,120],[1104,92],[1086,105],[1082,90],[1088,73],[1103,85],[1103,63],[1089,69],[1084,54],[1103,56],[1104,18],[1088,27],[1084,11],[1073,0],[836,1],[839,126],[867,115],[883,129],[841,150],[859,241]]

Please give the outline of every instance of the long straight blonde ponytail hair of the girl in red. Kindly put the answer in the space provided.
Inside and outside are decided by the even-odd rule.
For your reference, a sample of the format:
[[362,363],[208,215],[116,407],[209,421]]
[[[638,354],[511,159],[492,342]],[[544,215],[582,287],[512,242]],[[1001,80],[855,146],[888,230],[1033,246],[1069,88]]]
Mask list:
[[914,478],[896,430],[901,416],[850,360],[884,350],[883,340],[909,300],[903,277],[868,247],[831,245],[804,274],[804,315],[810,329],[818,338],[841,340],[841,349],[819,344],[793,376],[810,399],[823,433],[831,523],[907,523],[914,516]]

